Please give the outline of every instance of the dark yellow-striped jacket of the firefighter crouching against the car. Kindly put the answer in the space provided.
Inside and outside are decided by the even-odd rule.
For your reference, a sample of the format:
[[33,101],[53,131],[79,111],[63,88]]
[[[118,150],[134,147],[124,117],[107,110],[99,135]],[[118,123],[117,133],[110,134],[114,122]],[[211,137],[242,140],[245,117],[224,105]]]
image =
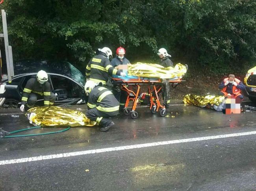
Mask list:
[[40,84],[36,78],[30,78],[23,89],[23,95],[21,98],[21,104],[26,104],[30,93],[36,93],[38,95],[44,96],[45,106],[50,105],[50,95],[51,95],[51,86],[49,82]]

